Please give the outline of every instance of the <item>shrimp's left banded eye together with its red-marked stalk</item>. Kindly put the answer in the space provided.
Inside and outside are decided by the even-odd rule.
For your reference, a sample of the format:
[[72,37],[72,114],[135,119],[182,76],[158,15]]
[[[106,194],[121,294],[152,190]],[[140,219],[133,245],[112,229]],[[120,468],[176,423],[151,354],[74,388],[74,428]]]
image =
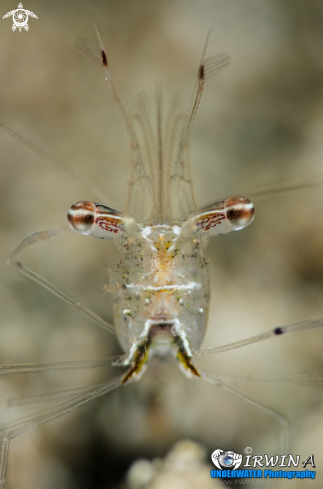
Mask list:
[[95,238],[111,239],[124,231],[124,219],[120,212],[87,200],[73,204],[67,219],[74,231]]

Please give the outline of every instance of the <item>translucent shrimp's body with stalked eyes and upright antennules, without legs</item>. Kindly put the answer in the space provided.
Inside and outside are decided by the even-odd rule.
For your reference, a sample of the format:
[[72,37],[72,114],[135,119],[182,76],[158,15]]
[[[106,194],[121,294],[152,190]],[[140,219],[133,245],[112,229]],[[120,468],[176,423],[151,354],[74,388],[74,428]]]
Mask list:
[[[115,239],[120,262],[111,273],[114,324],[127,353],[126,382],[147,364],[150,353],[174,351],[180,366],[200,375],[191,357],[203,341],[209,310],[209,273],[204,250],[210,237],[250,224],[252,203],[231,197],[198,209],[190,176],[188,143],[207,78],[228,63],[226,54],[205,58],[198,69],[190,111],[175,94],[164,117],[157,91],[157,124],[139,93],[127,112],[113,84],[106,52],[81,39],[77,47],[98,61],[120,110],[132,151],[128,202],[123,212],[93,202],[77,202],[68,213],[72,228],[101,239]],[[154,130],[155,127],[155,130]]]

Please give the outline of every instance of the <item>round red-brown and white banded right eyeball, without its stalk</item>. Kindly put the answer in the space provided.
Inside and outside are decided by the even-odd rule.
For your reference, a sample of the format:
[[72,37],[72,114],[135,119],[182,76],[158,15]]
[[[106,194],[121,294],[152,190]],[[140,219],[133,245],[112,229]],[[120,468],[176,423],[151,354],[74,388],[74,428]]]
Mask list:
[[229,197],[225,201],[224,208],[233,231],[245,228],[255,217],[253,203],[245,197]]

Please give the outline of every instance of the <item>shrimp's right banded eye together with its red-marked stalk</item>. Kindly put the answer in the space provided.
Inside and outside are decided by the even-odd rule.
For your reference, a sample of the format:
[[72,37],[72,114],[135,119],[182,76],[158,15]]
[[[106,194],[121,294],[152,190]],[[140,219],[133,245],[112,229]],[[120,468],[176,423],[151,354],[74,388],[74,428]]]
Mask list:
[[210,236],[228,234],[248,226],[254,219],[255,208],[245,197],[229,197],[197,211],[188,222],[207,231]]

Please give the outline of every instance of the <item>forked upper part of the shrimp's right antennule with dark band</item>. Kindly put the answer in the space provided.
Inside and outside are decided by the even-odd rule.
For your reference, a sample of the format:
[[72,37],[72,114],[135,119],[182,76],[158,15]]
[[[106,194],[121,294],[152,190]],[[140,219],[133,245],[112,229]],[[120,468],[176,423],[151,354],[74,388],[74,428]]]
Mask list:
[[[204,42],[201,61],[198,69],[197,87],[194,88],[194,92],[193,92],[194,102],[193,102],[192,110],[187,125],[186,139],[189,138],[192,124],[201,102],[205,81],[208,78],[211,78],[211,76],[215,75],[219,71],[223,70],[223,68],[225,68],[230,63],[230,57],[226,53],[220,53],[205,59],[206,51],[210,42],[211,33],[212,31],[209,30]],[[195,97],[194,97],[194,93],[195,93]]]

